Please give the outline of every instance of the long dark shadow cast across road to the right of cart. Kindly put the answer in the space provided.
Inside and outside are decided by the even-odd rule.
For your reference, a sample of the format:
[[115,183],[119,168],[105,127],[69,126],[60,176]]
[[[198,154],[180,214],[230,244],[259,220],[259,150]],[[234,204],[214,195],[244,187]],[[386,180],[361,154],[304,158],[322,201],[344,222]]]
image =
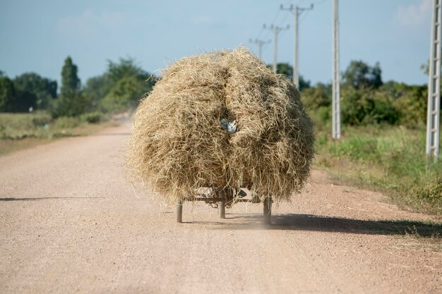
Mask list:
[[[228,219],[232,219],[229,223]],[[222,229],[263,228],[263,216],[227,215]],[[268,230],[322,231],[369,235],[414,235],[417,237],[442,238],[442,223],[411,220],[364,220],[346,219],[337,216],[316,216],[312,214],[280,214],[272,216]]]

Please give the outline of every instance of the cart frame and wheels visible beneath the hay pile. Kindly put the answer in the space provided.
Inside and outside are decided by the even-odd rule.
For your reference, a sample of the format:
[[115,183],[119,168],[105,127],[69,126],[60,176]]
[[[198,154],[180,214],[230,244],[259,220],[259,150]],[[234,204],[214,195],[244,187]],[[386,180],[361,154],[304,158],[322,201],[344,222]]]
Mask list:
[[[204,193],[198,193],[196,197],[192,197],[186,201],[196,202],[202,201],[210,206],[218,209],[221,219],[226,218],[225,209],[232,207],[232,205],[238,202],[260,203],[259,197],[252,197],[251,199],[245,199],[246,192],[234,189],[217,189],[207,188]],[[263,200],[263,216],[265,225],[270,225],[272,218],[272,197],[265,197]],[[179,200],[177,204],[177,222],[183,222],[183,200]]]

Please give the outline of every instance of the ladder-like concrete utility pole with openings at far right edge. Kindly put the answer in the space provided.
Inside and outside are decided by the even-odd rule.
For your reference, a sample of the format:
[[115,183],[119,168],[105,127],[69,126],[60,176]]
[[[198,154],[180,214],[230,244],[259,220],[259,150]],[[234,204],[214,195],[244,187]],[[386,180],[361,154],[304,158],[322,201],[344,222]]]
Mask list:
[[433,0],[431,17],[431,43],[428,82],[428,109],[426,116],[426,155],[439,156],[439,135],[441,119],[441,1]]

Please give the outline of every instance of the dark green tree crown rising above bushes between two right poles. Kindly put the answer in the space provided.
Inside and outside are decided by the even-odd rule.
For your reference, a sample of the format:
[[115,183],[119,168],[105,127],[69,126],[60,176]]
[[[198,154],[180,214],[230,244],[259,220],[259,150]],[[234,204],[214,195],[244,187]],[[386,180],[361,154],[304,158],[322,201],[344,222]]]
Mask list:
[[379,63],[371,67],[364,61],[351,61],[342,74],[342,82],[355,89],[362,87],[377,89],[383,84],[381,66]]

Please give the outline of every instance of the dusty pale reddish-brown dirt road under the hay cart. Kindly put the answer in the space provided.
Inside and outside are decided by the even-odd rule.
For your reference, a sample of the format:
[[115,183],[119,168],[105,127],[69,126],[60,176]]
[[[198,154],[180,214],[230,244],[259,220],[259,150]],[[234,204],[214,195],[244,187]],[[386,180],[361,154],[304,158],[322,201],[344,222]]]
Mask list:
[[0,158],[0,293],[442,293],[441,241],[414,230],[441,219],[314,171],[270,228],[257,204],[221,220],[186,203],[178,224],[124,182],[128,135],[122,125]]

